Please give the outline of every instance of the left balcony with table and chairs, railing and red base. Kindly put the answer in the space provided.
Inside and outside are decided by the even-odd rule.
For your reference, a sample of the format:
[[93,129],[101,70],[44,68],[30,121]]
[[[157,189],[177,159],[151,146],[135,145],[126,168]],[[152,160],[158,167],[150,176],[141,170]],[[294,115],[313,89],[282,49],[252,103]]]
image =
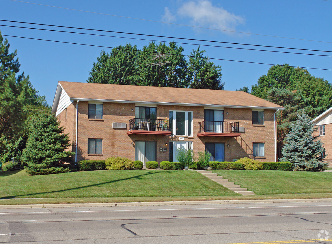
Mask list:
[[153,134],[153,135],[171,135],[169,119],[139,119],[129,120],[129,131],[131,134]]

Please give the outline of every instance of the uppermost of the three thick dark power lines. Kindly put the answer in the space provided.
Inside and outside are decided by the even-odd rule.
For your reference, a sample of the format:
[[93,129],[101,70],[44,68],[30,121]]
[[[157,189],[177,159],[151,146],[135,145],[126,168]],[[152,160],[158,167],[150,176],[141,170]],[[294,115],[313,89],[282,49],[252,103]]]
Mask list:
[[[12,1],[14,1],[14,0],[12,0]],[[257,45],[257,44],[247,44],[247,43],[221,42],[221,41],[211,41],[211,40],[192,39],[192,38],[183,38],[183,37],[169,37],[169,36],[158,36],[158,35],[140,34],[140,33],[132,33],[132,32],[108,31],[108,30],[89,29],[89,28],[81,28],[81,27],[48,25],[48,24],[39,24],[39,23],[31,23],[31,22],[13,21],[13,20],[2,20],[2,19],[0,19],[0,21],[20,23],[20,24],[31,24],[31,25],[42,25],[42,26],[52,26],[52,27],[61,27],[61,28],[69,28],[69,29],[88,30],[88,31],[101,31],[101,32],[110,32],[110,33],[118,33],[118,34],[138,35],[138,36],[149,36],[149,37],[161,37],[161,38],[170,38],[170,39],[181,39],[181,40],[189,40],[189,41],[200,41],[200,42],[212,42],[212,43],[245,45],[245,46],[265,47],[265,48],[293,49],[293,50],[315,51],[315,52],[332,52],[332,51],[314,50],[314,49],[301,49],[301,48],[288,48],[288,47],[278,47],[278,46],[266,46],[266,45]]]

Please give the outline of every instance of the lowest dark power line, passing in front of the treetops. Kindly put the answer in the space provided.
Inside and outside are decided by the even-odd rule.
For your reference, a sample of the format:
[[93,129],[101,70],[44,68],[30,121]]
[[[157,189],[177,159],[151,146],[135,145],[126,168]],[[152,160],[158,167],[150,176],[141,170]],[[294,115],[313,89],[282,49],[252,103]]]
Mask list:
[[[108,47],[108,46],[99,46],[99,45],[92,45],[92,44],[83,44],[83,43],[72,43],[72,42],[63,42],[63,41],[54,41],[54,40],[46,40],[46,39],[39,39],[39,38],[31,38],[31,37],[19,37],[19,36],[10,36],[10,35],[2,35],[5,37],[17,37],[17,38],[24,38],[24,39],[31,39],[31,40],[39,40],[39,41],[48,41],[48,42],[57,42],[57,43],[67,43],[67,44],[75,44],[75,45],[83,45],[83,46],[91,46],[91,47],[100,47],[100,48],[112,48],[112,49],[119,49],[119,50],[127,50],[127,51],[137,51],[137,52],[145,52],[145,53],[155,53],[152,51],[143,51],[143,50],[132,50],[126,48],[117,48],[117,47]],[[221,61],[233,61],[233,62],[242,62],[242,63],[254,63],[254,64],[266,64],[266,65],[279,65],[273,63],[261,63],[261,62],[250,62],[250,61],[240,61],[240,60],[230,60],[230,59],[217,59],[217,58],[207,58],[207,57],[198,57],[198,56],[191,56],[191,55],[181,55],[181,54],[170,54],[172,56],[182,56],[188,58],[201,58],[201,59],[212,59],[212,60],[221,60]],[[292,65],[290,65],[292,66]],[[304,69],[319,69],[319,70],[330,70],[326,68],[312,68],[312,67],[300,67],[300,66],[292,66]]]

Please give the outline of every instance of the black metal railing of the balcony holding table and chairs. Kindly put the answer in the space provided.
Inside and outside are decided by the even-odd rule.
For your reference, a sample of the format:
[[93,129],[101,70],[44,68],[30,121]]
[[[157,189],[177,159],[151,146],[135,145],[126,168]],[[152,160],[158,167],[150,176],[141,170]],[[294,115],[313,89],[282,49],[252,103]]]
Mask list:
[[169,119],[139,119],[129,120],[129,130],[170,131]]

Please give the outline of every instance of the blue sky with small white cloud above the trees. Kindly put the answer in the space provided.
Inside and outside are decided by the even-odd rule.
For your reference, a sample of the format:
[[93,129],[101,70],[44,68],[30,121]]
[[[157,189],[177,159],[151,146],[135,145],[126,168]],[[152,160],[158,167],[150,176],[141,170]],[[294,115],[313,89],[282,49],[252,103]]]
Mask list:
[[[60,8],[43,6],[40,4]],[[1,0],[0,7],[0,19],[2,20],[232,43],[332,51],[332,1],[328,0],[26,0],[26,2]],[[175,23],[180,25],[165,24],[160,22]],[[35,25],[32,26],[28,24],[9,23],[4,21],[0,21],[0,25],[63,30],[63,28],[57,27],[39,27]],[[4,26],[0,26],[0,30],[3,35],[107,47],[116,47],[120,44],[124,45],[128,42],[137,45],[137,47],[141,49],[149,43],[149,41],[142,40],[97,37],[60,32],[56,33]],[[105,34],[97,31],[83,32]],[[106,35],[142,38],[124,34],[115,35],[112,33],[106,33]],[[24,71],[26,75],[30,75],[31,83],[40,91],[40,95],[46,96],[47,102],[50,105],[52,104],[56,85],[59,80],[86,82],[93,62],[97,61],[97,57],[100,56],[100,52],[102,50],[105,50],[106,52],[111,51],[110,48],[54,43],[17,37],[4,36],[4,38],[9,40],[11,46],[10,51],[17,49],[17,57],[19,58],[19,62],[21,64],[20,72]],[[183,46],[184,54],[186,55],[189,55],[193,49],[197,49],[200,44],[210,44],[202,41],[184,41],[175,38],[146,37],[146,39],[153,39],[163,42],[175,41],[196,44],[179,44],[179,46]],[[257,49],[257,47],[246,47],[231,44],[212,43],[212,45]],[[271,64],[289,63],[293,66],[310,67],[308,69],[310,74],[316,77],[323,77],[329,82],[332,81],[331,70],[311,69],[332,69],[331,57],[201,46],[201,50],[202,49],[207,51],[206,55],[209,58]],[[258,49],[276,50],[272,48]],[[310,54],[318,53],[299,50],[280,51]],[[332,55],[332,53],[325,52],[320,52],[319,54]],[[225,82],[225,90],[235,90],[243,86],[248,86],[250,88],[251,85],[257,83],[257,80],[261,75],[267,73],[271,66],[235,61],[211,61],[213,61],[216,65],[221,65],[222,67],[222,81]]]

